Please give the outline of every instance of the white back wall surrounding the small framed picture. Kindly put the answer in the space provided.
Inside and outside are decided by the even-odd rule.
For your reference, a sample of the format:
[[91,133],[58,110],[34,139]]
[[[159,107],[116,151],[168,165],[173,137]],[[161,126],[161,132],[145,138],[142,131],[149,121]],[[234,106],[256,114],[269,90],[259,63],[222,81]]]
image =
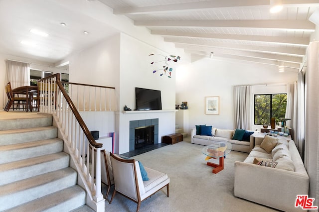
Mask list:
[[[261,83],[294,82],[297,73],[279,73],[277,66],[239,63],[218,58],[199,59],[179,67],[176,73],[176,102],[187,102],[189,130],[196,124],[233,129],[233,87]],[[205,97],[219,96],[219,115],[205,114]]]

